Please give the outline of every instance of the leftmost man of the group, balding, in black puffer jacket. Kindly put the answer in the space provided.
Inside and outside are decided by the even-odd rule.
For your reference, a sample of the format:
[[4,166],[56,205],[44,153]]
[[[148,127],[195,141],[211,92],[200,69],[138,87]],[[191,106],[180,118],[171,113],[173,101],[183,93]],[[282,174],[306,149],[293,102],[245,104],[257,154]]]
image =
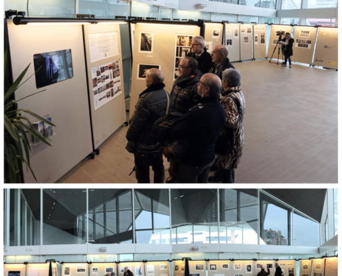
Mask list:
[[164,90],[164,75],[159,69],[147,71],[145,81],[147,89],[139,95],[126,133],[126,149],[134,153],[135,177],[138,183],[149,183],[149,166],[154,171],[154,183],[163,183],[162,149],[151,135],[151,129],[155,120],[167,113],[169,95]]

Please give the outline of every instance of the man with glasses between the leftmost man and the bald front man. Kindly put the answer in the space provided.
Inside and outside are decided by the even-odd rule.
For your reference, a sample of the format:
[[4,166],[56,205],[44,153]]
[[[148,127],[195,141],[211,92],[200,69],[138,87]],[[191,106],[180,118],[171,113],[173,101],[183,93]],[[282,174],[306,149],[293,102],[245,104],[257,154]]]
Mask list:
[[202,77],[198,70],[198,62],[192,57],[184,57],[178,65],[180,76],[175,79],[171,90],[171,106],[173,111],[186,113],[198,103],[197,83]]

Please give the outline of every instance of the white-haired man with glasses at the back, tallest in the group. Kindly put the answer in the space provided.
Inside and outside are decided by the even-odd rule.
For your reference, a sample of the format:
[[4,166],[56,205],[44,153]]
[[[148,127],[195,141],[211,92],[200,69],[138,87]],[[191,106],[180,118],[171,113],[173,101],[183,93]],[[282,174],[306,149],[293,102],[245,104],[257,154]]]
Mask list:
[[198,62],[198,70],[203,74],[209,72],[213,61],[211,61],[211,55],[205,48],[205,39],[203,37],[193,37],[191,39],[191,52],[187,54],[187,57],[193,57]]

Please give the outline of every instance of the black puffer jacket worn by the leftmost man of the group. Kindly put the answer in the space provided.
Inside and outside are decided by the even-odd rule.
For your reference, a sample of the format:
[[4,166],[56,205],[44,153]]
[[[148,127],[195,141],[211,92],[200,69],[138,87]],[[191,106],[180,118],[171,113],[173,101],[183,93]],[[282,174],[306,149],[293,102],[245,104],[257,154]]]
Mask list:
[[126,139],[140,144],[153,145],[155,139],[151,129],[155,120],[165,115],[167,110],[167,92],[164,83],[155,83],[140,93]]

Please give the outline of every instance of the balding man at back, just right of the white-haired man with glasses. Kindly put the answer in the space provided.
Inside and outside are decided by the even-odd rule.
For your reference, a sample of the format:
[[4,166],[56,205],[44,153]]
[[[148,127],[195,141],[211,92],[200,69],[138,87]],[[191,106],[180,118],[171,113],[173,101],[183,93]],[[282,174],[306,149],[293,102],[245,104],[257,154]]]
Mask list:
[[222,79],[222,72],[227,68],[234,68],[233,64],[230,63],[228,59],[228,50],[224,45],[216,45],[211,52],[211,59],[213,61],[213,66],[211,67],[211,73],[217,75]]

